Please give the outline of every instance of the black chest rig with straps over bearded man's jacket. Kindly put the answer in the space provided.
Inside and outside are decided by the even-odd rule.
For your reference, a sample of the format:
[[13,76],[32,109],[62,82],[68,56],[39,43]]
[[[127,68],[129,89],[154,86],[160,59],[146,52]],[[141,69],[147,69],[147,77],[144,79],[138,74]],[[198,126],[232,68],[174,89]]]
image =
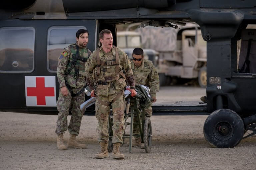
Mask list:
[[87,56],[84,56],[84,57],[80,56],[79,47],[78,45],[75,44],[75,47],[71,46],[71,56],[69,57],[69,60],[68,60],[67,68],[65,70],[65,75],[73,74],[74,78],[78,79],[78,76],[81,76],[79,75],[79,69],[80,69],[79,64],[80,62],[83,62],[84,64],[86,63],[88,58],[88,53],[87,53]]

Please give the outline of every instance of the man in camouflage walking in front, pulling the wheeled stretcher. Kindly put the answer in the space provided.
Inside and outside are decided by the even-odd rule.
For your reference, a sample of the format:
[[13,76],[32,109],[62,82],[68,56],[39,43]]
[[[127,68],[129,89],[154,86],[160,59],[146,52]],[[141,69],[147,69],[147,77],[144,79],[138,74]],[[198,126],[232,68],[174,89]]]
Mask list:
[[[92,53],[86,66],[86,82],[92,90],[91,96],[96,94],[97,97],[95,110],[101,152],[96,154],[95,158],[108,157],[108,117],[111,105],[113,110],[113,157],[124,159],[119,147],[123,143],[122,137],[125,130],[124,88],[126,81],[131,86],[131,95],[136,94],[131,62],[126,53],[112,45],[113,36],[110,30],[102,30],[99,38],[102,46]],[[96,73],[95,85],[92,78],[93,73]]]

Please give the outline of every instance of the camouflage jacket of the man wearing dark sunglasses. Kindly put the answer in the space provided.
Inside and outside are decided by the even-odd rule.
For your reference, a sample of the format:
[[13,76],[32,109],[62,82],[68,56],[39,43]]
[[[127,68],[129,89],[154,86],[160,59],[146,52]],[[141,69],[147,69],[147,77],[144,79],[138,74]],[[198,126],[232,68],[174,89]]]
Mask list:
[[155,66],[150,60],[143,59],[139,68],[131,62],[135,84],[145,85],[150,88],[151,97],[156,98],[159,91],[159,76]]

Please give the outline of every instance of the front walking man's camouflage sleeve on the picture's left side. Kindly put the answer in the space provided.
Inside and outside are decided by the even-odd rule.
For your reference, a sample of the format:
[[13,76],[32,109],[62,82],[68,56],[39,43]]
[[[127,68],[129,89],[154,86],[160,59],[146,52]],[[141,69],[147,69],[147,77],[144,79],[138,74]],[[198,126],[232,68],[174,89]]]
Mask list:
[[86,77],[86,83],[90,87],[91,90],[94,89],[94,82],[93,82],[93,69],[97,66],[97,58],[95,53],[93,53],[89,60],[86,63],[85,67],[85,77]]

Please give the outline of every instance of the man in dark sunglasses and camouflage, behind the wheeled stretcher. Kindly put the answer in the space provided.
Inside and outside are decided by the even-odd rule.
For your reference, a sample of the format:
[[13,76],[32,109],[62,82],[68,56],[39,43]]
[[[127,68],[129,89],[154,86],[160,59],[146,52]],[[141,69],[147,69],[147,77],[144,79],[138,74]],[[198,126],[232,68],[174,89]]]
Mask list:
[[[132,53],[132,71],[134,75],[135,84],[145,85],[150,88],[150,96],[153,98],[152,102],[156,102],[156,93],[159,91],[159,76],[150,60],[144,59],[143,50],[141,48],[135,48]],[[146,116],[152,116],[152,103],[146,108]],[[137,117],[134,117],[134,122],[137,122]],[[139,125],[133,126],[133,134],[140,134]],[[141,146],[144,148],[144,144],[141,143],[141,138],[136,137],[132,146]]]

